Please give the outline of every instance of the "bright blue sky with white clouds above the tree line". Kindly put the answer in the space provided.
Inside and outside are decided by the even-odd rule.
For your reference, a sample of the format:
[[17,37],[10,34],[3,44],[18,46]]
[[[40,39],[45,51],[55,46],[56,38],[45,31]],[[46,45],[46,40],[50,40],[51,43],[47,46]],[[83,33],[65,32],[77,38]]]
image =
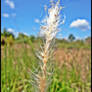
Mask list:
[[[38,35],[39,21],[45,16],[44,5],[50,0],[1,0],[1,29],[7,28],[15,35],[23,32]],[[60,26],[58,38],[73,34],[77,39],[91,36],[91,0],[61,0],[65,23]]]

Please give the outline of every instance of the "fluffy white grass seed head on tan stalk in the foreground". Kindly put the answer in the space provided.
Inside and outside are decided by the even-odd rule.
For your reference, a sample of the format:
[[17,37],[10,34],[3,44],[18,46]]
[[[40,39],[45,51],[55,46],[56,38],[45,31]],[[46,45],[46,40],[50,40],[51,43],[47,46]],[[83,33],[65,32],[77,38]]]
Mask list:
[[[49,67],[47,66],[47,63],[50,62],[50,60],[53,58],[51,57],[51,54],[53,55],[53,47],[54,47],[54,40],[56,37],[56,34],[58,33],[58,27],[61,24],[60,22],[60,11],[62,7],[60,6],[60,0],[57,2],[51,1],[51,7],[47,9],[48,14],[46,15],[45,19],[42,20],[41,26],[40,26],[40,33],[43,33],[43,45],[41,46],[40,50],[38,50],[37,57],[40,59],[38,74],[36,73],[38,77],[38,88],[40,92],[46,92],[48,88],[48,79],[49,74],[51,72],[48,72]],[[45,7],[46,10],[46,7]],[[40,34],[41,35],[41,34]],[[50,65],[50,64],[48,64]],[[37,79],[36,79],[37,80]],[[47,84],[48,83],[48,84]]]

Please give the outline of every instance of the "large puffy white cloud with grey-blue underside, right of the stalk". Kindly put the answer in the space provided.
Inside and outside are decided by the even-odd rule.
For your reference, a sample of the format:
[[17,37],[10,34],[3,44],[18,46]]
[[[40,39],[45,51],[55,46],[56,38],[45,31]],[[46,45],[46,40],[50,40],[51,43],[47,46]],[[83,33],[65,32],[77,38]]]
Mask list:
[[77,19],[77,20],[73,21],[70,24],[70,27],[71,28],[79,28],[81,30],[88,30],[88,29],[90,29],[90,25],[89,25],[88,21],[85,20],[85,19]]

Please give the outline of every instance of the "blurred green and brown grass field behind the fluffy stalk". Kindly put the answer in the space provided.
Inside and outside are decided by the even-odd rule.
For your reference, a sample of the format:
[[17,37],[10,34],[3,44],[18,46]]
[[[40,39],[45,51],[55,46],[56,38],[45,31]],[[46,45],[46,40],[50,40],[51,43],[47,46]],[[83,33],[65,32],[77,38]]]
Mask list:
[[[1,47],[1,91],[33,92],[29,70],[35,65],[37,42]],[[91,92],[91,46],[57,43],[54,75],[48,92]]]

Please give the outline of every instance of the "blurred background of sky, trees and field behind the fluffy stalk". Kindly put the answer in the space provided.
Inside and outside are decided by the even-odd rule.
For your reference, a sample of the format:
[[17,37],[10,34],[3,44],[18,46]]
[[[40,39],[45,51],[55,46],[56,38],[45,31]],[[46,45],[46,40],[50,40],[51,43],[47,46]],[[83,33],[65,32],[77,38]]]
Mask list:
[[[48,92],[91,92],[91,0],[61,0],[53,82]],[[29,69],[42,43],[49,0],[1,0],[1,91],[33,92]]]

